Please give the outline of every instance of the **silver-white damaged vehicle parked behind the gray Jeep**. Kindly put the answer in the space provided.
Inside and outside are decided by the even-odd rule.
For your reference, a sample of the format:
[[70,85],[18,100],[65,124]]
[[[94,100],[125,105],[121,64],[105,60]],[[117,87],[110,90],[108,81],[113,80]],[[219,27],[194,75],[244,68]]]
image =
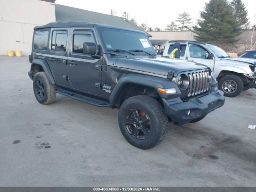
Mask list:
[[225,96],[235,97],[242,90],[256,88],[256,59],[231,58],[215,44],[196,41],[170,41],[163,57],[169,56],[174,43],[181,44],[180,59],[204,64],[212,70]]

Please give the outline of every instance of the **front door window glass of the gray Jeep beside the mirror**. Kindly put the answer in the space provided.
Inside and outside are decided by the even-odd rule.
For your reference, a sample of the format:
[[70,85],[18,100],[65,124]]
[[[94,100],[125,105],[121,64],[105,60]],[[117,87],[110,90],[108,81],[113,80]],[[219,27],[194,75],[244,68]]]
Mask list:
[[74,31],[73,34],[73,52],[83,53],[84,42],[94,42],[94,37],[91,31]]

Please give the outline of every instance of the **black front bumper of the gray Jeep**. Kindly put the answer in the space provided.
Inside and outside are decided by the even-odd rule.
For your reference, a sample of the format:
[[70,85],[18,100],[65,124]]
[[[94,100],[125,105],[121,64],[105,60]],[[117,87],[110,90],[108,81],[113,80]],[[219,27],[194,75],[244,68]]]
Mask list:
[[[192,98],[186,102],[180,98],[162,99],[165,114],[172,119],[175,124],[183,125],[194,119],[206,116],[208,113],[224,105],[225,98],[223,92],[214,90],[206,96]],[[190,110],[190,115],[187,111]]]

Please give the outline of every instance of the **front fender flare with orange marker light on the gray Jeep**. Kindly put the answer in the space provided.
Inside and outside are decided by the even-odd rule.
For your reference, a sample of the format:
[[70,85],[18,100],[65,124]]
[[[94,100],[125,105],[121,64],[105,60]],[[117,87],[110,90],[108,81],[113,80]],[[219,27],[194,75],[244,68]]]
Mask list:
[[148,75],[142,75],[142,74],[124,74],[116,86],[114,87],[109,101],[111,104],[114,104],[114,102],[117,100],[118,95],[120,94],[120,90],[126,85],[126,84],[137,84],[142,86],[147,86],[154,88],[155,90],[157,88],[175,88],[177,93],[175,94],[162,94],[158,92],[159,96],[161,98],[176,98],[181,96],[181,92],[179,88],[176,86],[176,84],[171,81],[160,77],[154,77],[154,76],[148,76]]

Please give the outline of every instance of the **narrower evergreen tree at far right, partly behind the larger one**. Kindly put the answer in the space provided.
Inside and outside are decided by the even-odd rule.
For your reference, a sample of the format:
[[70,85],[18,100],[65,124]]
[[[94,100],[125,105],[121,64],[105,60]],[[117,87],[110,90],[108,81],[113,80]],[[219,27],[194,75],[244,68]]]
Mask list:
[[237,22],[241,28],[244,28],[248,23],[248,11],[241,0],[232,0],[230,5],[233,8],[233,13],[236,16]]

